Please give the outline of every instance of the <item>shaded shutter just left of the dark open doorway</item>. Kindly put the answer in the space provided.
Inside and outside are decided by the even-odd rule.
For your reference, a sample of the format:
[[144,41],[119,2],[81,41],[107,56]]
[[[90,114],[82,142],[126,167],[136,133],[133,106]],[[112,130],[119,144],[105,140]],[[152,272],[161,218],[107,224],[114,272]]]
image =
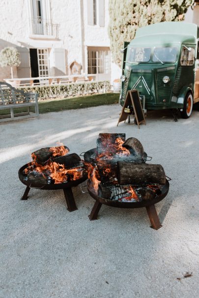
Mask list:
[[29,49],[17,47],[20,53],[20,65],[17,67],[18,77],[30,77],[30,57]]

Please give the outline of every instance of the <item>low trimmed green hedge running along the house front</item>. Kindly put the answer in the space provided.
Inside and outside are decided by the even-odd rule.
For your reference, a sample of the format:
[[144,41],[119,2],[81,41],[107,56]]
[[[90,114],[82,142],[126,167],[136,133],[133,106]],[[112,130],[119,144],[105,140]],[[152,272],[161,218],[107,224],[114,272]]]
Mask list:
[[107,93],[111,89],[111,84],[109,81],[82,82],[67,85],[20,87],[19,89],[23,89],[24,92],[38,93],[40,99],[49,99],[89,95],[94,93]]

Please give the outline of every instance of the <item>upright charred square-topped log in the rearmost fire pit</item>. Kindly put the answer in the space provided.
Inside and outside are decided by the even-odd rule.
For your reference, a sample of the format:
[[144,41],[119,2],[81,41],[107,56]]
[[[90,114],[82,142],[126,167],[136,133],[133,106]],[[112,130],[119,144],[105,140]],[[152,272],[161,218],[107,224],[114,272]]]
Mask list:
[[116,139],[120,138],[125,141],[125,133],[100,133],[97,139],[98,154],[112,150],[112,145],[115,144]]

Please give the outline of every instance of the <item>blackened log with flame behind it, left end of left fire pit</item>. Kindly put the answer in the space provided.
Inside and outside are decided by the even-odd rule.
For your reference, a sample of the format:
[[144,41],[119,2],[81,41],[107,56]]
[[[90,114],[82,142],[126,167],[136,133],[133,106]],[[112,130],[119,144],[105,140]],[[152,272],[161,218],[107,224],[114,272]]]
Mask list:
[[69,151],[68,147],[66,146],[46,147],[32,152],[31,156],[37,164],[44,165],[49,158],[55,155],[54,149],[57,149],[58,151],[61,148],[64,148],[67,152]]

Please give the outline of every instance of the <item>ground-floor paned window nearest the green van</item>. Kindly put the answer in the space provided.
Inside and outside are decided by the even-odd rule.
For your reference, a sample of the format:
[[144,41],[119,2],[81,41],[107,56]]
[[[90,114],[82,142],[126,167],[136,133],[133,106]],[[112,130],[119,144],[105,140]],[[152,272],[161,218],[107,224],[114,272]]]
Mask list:
[[110,49],[88,47],[88,74],[109,74],[110,71]]

